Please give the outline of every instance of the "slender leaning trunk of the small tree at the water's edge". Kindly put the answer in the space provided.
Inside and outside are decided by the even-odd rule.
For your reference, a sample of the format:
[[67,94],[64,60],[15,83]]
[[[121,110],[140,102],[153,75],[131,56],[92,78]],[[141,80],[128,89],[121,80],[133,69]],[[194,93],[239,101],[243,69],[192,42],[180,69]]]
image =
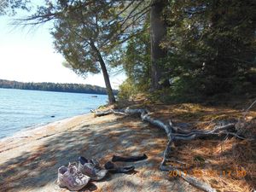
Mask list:
[[109,80],[109,76],[108,76],[108,70],[105,64],[105,61],[102,58],[102,54],[100,53],[100,51],[96,48],[95,44],[90,43],[90,46],[92,47],[92,49],[94,49],[96,51],[96,54],[98,55],[98,61],[100,63],[100,66],[102,68],[102,73],[103,73],[103,77],[104,77],[104,81],[106,84],[106,89],[108,92],[108,102],[109,104],[113,104],[115,103],[115,98],[113,96],[113,90],[110,84],[110,80]]

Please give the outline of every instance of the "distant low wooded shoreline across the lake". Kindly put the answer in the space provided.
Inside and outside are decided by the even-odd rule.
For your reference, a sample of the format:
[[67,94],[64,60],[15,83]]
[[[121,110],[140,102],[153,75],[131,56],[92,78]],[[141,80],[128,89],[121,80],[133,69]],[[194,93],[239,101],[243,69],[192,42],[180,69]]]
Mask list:
[[[0,88],[20,90],[48,90],[58,92],[89,93],[106,95],[106,88],[90,84],[22,83],[0,79]],[[117,90],[113,90],[117,94]]]

